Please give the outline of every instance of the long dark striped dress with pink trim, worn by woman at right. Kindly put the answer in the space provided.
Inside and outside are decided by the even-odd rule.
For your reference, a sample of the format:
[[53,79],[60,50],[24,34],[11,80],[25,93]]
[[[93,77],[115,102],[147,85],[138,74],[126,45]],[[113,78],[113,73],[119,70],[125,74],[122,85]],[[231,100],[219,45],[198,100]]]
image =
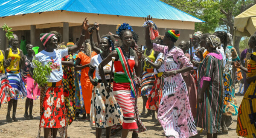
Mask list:
[[[218,133],[224,106],[223,60],[221,54],[209,53],[198,68],[198,91],[203,81],[209,81],[204,102],[197,104],[195,123],[207,133]],[[203,81],[201,81],[203,80]]]

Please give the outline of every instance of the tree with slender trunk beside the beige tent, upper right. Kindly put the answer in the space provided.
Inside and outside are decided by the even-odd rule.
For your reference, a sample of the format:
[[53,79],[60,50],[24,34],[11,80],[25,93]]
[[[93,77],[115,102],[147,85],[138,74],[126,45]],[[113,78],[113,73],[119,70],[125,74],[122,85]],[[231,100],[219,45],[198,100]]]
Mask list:
[[[241,14],[251,6],[256,4],[256,0],[220,0],[219,6],[222,13],[220,25],[225,26],[226,31],[234,35],[234,17]],[[240,55],[239,42],[242,37],[235,37],[234,47]]]

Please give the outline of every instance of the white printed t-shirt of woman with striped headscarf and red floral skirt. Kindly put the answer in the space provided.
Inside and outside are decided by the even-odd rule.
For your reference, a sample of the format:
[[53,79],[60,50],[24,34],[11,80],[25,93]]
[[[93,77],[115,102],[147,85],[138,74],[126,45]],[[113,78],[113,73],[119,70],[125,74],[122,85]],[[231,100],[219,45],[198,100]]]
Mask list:
[[[38,60],[42,63],[43,66],[47,65],[48,62],[52,62],[51,74],[47,76],[48,82],[59,82],[63,77],[61,58],[68,55],[67,48],[66,49],[58,49],[53,52],[47,52],[45,50],[39,52],[35,55],[34,59]],[[31,64],[31,68],[37,68],[33,63]]]

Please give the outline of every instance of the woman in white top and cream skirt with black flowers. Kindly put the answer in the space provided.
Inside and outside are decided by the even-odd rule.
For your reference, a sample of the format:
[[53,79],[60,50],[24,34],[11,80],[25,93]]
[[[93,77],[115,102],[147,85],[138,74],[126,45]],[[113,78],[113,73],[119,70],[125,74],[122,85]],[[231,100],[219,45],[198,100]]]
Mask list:
[[[90,35],[92,37],[92,35]],[[89,78],[90,82],[94,85],[92,92],[92,102],[90,108],[90,127],[96,127],[96,138],[100,138],[102,134],[102,128],[106,128],[106,138],[110,138],[111,127],[115,124],[122,124],[122,112],[121,108],[116,102],[113,93],[108,93],[105,90],[104,83],[99,76],[99,64],[110,54],[110,48],[114,50],[114,37],[102,36],[99,42],[100,50],[102,54],[93,56],[90,62]],[[95,45],[93,41],[90,41],[92,47]],[[110,71],[112,61],[103,67],[108,83],[110,81]],[[93,73],[96,73],[97,79],[93,79]]]

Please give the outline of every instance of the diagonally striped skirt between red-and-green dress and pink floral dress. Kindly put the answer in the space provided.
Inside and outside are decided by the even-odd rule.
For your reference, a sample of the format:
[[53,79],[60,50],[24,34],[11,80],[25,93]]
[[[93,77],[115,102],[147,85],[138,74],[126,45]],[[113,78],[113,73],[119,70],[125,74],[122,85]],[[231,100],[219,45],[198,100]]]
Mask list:
[[154,72],[143,71],[141,81],[141,96],[148,96],[154,85]]

